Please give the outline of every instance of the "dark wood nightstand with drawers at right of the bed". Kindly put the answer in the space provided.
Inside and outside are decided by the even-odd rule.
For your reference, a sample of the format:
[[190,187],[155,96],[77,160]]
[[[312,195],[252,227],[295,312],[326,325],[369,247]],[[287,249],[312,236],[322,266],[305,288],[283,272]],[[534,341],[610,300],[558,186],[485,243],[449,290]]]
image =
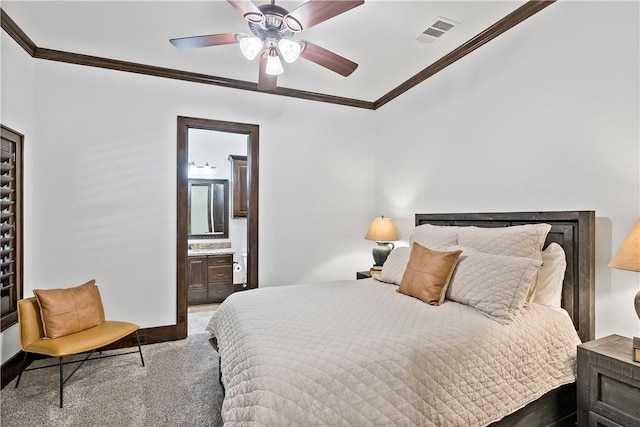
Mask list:
[[640,363],[633,341],[609,335],[578,346],[578,425],[640,425]]

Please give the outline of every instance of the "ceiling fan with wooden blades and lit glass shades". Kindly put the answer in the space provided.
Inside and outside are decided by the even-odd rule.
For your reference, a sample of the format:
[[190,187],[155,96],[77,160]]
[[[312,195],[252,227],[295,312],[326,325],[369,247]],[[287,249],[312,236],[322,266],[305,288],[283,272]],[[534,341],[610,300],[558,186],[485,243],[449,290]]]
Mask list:
[[284,72],[281,59],[291,63],[298,57],[303,57],[345,77],[358,67],[355,62],[316,44],[291,38],[307,28],[360,6],[364,0],[309,0],[291,12],[277,6],[275,0],[259,6],[251,0],[227,1],[247,20],[253,36],[245,33],[208,34],[171,39],[171,44],[179,49],[192,49],[239,43],[240,50],[247,59],[260,57],[259,90],[276,88],[278,75]]

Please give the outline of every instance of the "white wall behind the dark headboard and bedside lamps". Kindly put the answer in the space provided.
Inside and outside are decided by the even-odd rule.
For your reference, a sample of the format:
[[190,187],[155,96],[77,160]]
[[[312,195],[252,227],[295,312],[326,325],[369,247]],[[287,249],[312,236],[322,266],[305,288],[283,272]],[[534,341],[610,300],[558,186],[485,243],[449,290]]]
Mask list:
[[640,331],[640,275],[607,267],[640,218],[638,6],[554,3],[375,122],[376,207],[404,239],[416,212],[595,210],[597,336]]

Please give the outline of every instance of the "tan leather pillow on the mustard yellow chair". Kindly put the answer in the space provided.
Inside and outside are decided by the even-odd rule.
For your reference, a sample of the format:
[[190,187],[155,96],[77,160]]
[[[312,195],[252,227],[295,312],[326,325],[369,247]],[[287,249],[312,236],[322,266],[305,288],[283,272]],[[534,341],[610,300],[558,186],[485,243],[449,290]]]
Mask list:
[[104,310],[95,280],[67,289],[34,289],[44,334],[58,338],[104,322]]

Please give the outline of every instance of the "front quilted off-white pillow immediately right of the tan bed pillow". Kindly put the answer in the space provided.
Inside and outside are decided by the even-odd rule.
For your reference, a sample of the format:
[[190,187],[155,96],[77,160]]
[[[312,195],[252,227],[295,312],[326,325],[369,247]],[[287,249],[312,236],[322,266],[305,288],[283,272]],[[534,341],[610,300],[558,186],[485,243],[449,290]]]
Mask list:
[[494,255],[462,246],[447,299],[471,306],[499,323],[509,323],[524,305],[542,261]]

